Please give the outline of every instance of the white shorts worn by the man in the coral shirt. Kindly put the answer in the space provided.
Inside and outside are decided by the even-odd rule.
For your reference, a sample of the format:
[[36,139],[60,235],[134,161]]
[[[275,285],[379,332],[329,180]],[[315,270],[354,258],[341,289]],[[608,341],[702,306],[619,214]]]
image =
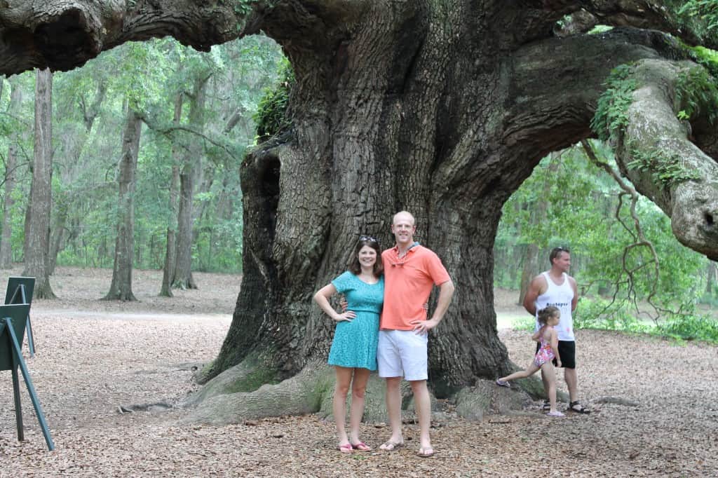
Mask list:
[[429,378],[426,346],[429,334],[413,330],[380,330],[376,361],[381,378],[404,377],[406,380]]

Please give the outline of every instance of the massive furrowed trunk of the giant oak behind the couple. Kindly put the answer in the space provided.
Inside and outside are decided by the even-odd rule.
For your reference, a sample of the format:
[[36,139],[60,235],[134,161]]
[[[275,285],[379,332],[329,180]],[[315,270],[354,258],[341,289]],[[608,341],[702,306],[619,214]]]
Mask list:
[[[290,27],[281,8],[265,27],[284,45],[297,88],[291,133],[253,151],[241,170],[244,277],[208,376],[238,368],[225,372],[233,377],[227,382],[220,374],[206,391],[218,398],[204,401],[215,412],[230,402],[235,417],[251,416],[252,400],[269,390],[292,388],[298,373],[320,387],[317,363],[332,323],[312,305],[312,291],[340,273],[360,233],[391,245],[389,221],[401,209],[416,215],[419,240],[457,284],[430,340],[434,393],[510,369],[493,311],[501,206],[541,157],[594,135],[589,123],[612,68],[651,61],[677,68],[663,57],[681,55],[663,34],[636,29],[542,37],[541,26],[549,30],[565,11],[505,2],[365,4],[346,30],[318,26],[340,13],[324,5],[323,14],[303,17],[304,29]],[[663,116],[673,121],[675,111]],[[704,154],[702,164],[710,190],[715,162]],[[704,253],[715,252],[715,228],[698,222],[708,227],[699,239]],[[286,382],[252,392],[253,374]],[[245,395],[228,394],[237,390]]]

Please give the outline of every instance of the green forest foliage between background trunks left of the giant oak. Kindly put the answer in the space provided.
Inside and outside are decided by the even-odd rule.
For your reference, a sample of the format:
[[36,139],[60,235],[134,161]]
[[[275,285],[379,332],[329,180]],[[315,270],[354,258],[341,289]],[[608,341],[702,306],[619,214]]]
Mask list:
[[[173,39],[123,44],[103,52],[81,68],[58,72],[53,81],[53,210],[51,238],[58,234],[57,263],[111,267],[116,239],[117,163],[126,108],[136,108],[152,123],[172,123],[174,101],[189,93],[196,78],[209,78],[205,136],[187,131],[163,133],[143,126],[137,167],[134,266],[162,268],[169,213],[172,166],[190,146],[199,144],[195,182],[195,229],[192,267],[199,271],[241,271],[242,192],[238,166],[255,139],[252,116],[263,88],[273,84],[281,49],[263,36],[245,37],[195,52]],[[0,110],[9,103],[9,83],[22,89],[22,111],[0,115],[0,156],[14,135],[18,146],[17,187],[11,211],[14,261],[22,261],[24,213],[32,159],[34,72],[4,81]],[[185,95],[180,121],[189,121]],[[229,125],[230,118],[238,121]],[[90,118],[94,118],[90,121]],[[226,129],[226,132],[225,132]],[[228,153],[230,151],[230,153]],[[179,154],[177,154],[179,152]],[[4,174],[0,163],[0,175]],[[4,188],[0,188],[4,194]],[[52,242],[52,241],[51,241]],[[159,284],[158,284],[159,288]]]

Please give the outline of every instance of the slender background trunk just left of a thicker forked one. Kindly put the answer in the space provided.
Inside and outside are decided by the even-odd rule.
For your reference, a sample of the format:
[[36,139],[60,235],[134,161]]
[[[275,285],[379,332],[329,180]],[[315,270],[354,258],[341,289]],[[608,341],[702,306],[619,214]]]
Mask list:
[[[179,93],[174,100],[175,125],[182,120],[182,103],[184,95]],[[162,289],[160,296],[172,297],[172,284],[174,283],[174,268],[177,266],[177,219],[180,212],[180,149],[172,144],[172,177],[169,178],[169,219],[167,220],[167,245],[164,253],[164,268],[162,273]]]

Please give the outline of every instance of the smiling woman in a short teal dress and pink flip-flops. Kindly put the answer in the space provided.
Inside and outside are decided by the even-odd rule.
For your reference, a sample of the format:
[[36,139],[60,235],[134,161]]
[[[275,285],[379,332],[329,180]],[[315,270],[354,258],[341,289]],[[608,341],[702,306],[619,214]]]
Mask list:
[[[376,370],[379,314],[384,301],[383,271],[379,243],[375,238],[362,236],[354,248],[349,270],[314,294],[317,304],[337,322],[329,365],[334,365],[337,375],[334,419],[342,453],[371,450],[359,439],[359,425],[364,414],[369,372]],[[341,314],[337,314],[329,303],[329,298],[337,293],[344,294],[348,301],[348,308]],[[344,421],[350,385],[352,405],[347,436]]]

